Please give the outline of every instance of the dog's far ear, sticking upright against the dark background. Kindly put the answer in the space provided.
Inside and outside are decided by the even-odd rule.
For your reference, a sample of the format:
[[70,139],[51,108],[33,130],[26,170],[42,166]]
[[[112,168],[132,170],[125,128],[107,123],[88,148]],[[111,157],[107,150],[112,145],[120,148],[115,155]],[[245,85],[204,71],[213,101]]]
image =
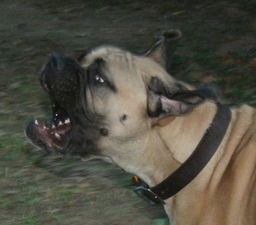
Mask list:
[[169,29],[162,33],[162,37],[145,52],[145,57],[150,57],[171,73],[172,56],[175,51],[175,42],[182,37],[180,30]]

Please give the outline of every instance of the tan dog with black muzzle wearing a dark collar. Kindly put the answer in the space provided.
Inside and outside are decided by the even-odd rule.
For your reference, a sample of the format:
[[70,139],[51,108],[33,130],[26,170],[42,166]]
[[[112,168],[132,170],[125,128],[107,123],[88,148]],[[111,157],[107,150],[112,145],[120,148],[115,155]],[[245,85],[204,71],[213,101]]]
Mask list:
[[[229,110],[213,87],[165,70],[165,42],[143,57],[102,46],[76,62],[53,55],[40,75],[53,123],[27,136],[46,151],[101,157],[139,175],[138,194],[171,224],[256,224],[256,111]],[[161,65],[160,65],[161,64]]]

